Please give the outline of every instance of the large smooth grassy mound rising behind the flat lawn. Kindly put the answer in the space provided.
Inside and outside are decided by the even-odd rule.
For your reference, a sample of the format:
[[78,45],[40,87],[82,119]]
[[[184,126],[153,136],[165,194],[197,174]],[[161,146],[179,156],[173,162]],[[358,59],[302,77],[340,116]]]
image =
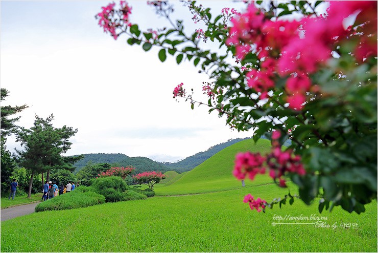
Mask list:
[[[269,152],[271,144],[269,140],[247,139],[235,143],[226,149],[210,157],[192,171],[187,172],[180,178],[176,177],[173,182],[157,185],[156,195],[179,195],[205,192],[217,192],[225,189],[241,187],[241,182],[232,175],[235,155],[239,152]],[[271,183],[272,179],[267,175],[258,175],[254,181],[246,180],[246,186]]]

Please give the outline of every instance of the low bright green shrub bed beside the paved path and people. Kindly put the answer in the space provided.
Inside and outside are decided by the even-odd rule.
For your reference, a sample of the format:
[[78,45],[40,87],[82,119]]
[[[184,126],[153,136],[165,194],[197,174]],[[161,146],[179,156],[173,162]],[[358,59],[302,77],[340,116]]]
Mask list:
[[102,203],[105,203],[105,197],[100,194],[91,191],[83,193],[75,190],[39,203],[35,207],[35,212],[75,209]]

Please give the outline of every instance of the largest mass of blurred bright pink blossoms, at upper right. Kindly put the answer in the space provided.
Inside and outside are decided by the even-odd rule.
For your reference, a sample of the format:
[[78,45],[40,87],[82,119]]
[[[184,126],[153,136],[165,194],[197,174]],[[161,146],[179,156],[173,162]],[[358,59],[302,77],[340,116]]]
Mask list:
[[377,54],[377,4],[374,1],[335,1],[330,3],[326,17],[306,17],[299,22],[272,21],[250,4],[246,13],[231,19],[233,27],[227,44],[235,46],[238,59],[253,51],[261,60],[261,68],[249,71],[246,76],[248,86],[261,93],[262,99],[274,88],[278,75],[289,76],[287,102],[290,108],[301,110],[306,92],[312,86],[309,74],[332,57],[331,51],[337,42],[347,39],[348,30],[343,27],[343,20],[356,11],[361,11],[356,23],[365,22],[361,26],[364,36],[354,52],[362,61]]

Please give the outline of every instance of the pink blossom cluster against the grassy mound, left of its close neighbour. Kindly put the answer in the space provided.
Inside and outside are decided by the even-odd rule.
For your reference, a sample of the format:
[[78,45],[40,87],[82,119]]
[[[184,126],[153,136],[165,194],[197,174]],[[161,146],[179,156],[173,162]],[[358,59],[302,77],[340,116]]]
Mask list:
[[246,176],[253,180],[256,174],[265,174],[264,161],[265,158],[259,153],[239,153],[236,155],[232,174],[239,180],[245,179]]

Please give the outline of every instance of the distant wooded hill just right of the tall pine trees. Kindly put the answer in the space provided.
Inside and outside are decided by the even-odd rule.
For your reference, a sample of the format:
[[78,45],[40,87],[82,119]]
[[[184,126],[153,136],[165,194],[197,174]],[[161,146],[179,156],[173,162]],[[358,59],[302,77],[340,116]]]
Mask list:
[[[124,154],[103,154],[103,153],[98,153],[98,154],[83,154],[84,158],[81,159],[80,161],[77,161],[74,163],[75,169],[75,174],[78,173],[82,167],[84,167],[89,161],[92,163],[118,163],[122,160],[125,160],[129,158],[127,155]],[[76,157],[76,156],[74,156]]]

